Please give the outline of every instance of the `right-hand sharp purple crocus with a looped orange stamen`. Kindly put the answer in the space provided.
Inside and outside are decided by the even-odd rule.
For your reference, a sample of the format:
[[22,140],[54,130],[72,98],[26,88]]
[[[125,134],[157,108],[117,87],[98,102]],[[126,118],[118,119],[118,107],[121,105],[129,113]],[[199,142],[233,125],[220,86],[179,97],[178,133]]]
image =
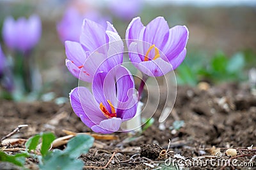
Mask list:
[[176,69],[186,56],[188,33],[186,26],[169,29],[163,17],[146,27],[140,17],[134,18],[125,35],[132,64],[148,76],[163,76]]

